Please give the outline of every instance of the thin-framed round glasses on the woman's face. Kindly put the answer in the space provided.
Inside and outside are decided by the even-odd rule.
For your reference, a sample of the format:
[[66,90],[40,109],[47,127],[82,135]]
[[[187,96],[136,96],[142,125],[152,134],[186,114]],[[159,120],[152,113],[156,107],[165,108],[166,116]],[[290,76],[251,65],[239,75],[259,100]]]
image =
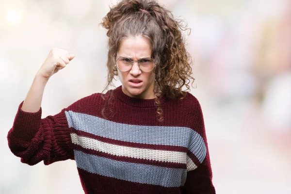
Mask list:
[[129,71],[134,62],[137,62],[140,70],[145,72],[149,72],[155,67],[155,62],[150,57],[141,58],[138,61],[131,61],[128,57],[119,57],[115,65],[120,71]]

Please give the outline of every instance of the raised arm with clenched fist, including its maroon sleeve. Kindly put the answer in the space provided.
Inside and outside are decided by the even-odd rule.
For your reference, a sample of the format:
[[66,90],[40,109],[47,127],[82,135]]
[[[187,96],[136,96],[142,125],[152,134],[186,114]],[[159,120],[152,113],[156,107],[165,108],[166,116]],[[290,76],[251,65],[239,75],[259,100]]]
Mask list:
[[41,119],[41,101],[49,78],[73,58],[74,55],[64,49],[51,49],[35,75],[25,100],[19,105],[7,139],[9,148],[21,158],[21,162],[34,165],[44,161],[48,165],[74,158],[65,109]]

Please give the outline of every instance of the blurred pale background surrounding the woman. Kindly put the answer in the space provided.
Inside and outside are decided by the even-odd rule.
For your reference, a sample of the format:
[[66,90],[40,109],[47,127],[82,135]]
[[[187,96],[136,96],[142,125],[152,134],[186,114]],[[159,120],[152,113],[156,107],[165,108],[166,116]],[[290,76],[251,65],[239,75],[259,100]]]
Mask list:
[[[291,194],[291,0],[160,0],[185,34],[217,194]],[[116,0],[0,0],[0,194],[81,194],[74,161],[29,166],[7,144],[52,47],[76,54],[49,80],[42,118],[106,82],[98,24]],[[116,81],[115,86],[119,86]]]

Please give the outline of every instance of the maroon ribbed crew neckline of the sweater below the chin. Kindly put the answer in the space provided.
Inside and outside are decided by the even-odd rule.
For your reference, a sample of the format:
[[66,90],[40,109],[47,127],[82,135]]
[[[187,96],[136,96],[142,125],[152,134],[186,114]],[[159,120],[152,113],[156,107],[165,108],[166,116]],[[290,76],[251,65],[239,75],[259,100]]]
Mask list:
[[[155,106],[155,99],[142,99],[142,98],[135,98],[135,97],[129,97],[122,91],[122,86],[118,86],[114,90],[114,96],[119,99],[120,101],[124,102],[125,104],[128,104],[130,106],[134,107],[153,107]],[[164,97],[161,97],[160,99],[161,103],[165,101]]]

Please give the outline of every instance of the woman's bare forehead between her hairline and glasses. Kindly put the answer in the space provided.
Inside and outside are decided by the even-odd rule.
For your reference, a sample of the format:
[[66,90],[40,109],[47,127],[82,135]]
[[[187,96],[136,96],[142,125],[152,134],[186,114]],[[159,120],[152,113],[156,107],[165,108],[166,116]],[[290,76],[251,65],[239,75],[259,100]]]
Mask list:
[[147,56],[151,55],[151,44],[148,39],[142,36],[126,37],[122,40],[118,55],[123,56]]

